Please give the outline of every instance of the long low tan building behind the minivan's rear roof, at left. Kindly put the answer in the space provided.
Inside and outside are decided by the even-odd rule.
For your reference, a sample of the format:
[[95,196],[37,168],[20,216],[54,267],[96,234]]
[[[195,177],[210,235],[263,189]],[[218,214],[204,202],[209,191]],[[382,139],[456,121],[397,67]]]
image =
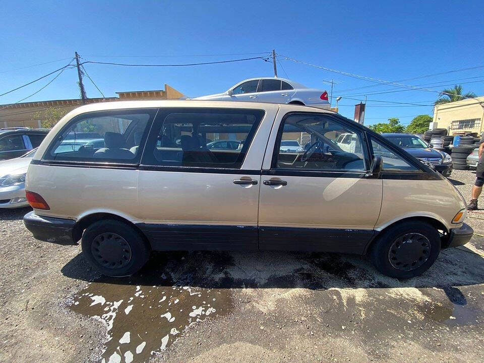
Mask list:
[[[86,103],[140,99],[176,99],[185,95],[165,84],[164,90],[116,92],[118,97],[88,98]],[[67,113],[82,105],[81,99],[23,102],[0,105],[0,129],[8,127],[40,128],[42,111],[53,108]],[[59,112],[60,113],[60,112]]]

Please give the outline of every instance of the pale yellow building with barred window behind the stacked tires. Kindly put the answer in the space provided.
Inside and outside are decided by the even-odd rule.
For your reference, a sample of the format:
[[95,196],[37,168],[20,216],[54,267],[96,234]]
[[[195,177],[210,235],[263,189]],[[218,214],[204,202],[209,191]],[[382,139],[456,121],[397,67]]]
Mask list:
[[449,135],[484,131],[484,96],[435,106],[434,129],[449,130]]

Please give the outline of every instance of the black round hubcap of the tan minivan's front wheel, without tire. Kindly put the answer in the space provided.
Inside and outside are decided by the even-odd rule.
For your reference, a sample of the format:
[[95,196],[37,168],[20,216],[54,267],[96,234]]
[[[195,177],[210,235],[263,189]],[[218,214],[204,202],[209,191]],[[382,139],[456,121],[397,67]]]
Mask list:
[[425,264],[430,251],[429,238],[420,233],[407,233],[394,240],[388,259],[395,269],[412,271]]

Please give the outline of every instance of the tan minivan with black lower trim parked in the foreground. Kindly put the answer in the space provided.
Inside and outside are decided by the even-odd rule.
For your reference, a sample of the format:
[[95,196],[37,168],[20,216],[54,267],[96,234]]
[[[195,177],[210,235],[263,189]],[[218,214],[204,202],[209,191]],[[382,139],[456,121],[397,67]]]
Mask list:
[[110,276],[152,250],[297,250],[368,254],[409,278],[473,233],[445,177],[352,120],[290,104],[82,106],[40,145],[26,191],[35,238],[82,240]]

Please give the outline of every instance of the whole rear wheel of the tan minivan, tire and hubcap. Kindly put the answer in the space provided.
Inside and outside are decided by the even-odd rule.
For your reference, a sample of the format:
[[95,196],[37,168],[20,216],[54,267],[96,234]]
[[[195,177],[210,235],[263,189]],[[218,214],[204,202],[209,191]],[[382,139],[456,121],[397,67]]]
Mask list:
[[92,267],[103,275],[114,277],[130,276],[139,271],[151,252],[139,231],[112,219],[87,227],[81,246],[84,258]]

